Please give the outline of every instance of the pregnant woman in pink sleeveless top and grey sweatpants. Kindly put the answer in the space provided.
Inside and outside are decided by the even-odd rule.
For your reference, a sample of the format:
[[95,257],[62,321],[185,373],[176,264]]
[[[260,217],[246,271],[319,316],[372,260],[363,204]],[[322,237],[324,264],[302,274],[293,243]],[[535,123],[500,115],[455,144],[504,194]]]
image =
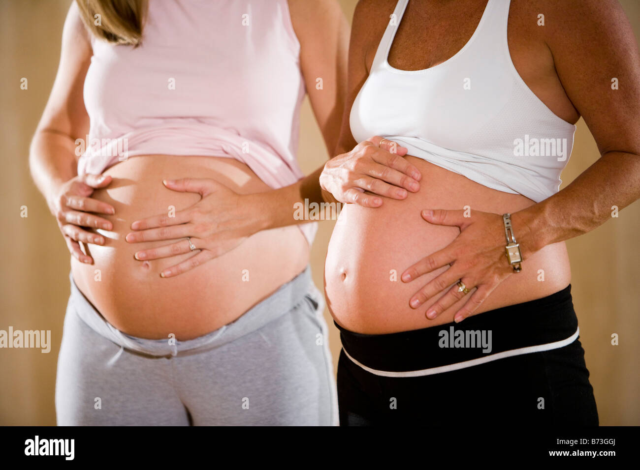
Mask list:
[[[346,29],[330,0],[72,4],[30,156],[73,255],[59,425],[337,423],[315,227],[292,207],[321,194],[321,169],[303,178],[294,158],[305,88],[337,143]],[[353,154],[367,147],[391,156]],[[163,185],[193,178],[207,190]],[[139,252],[166,242],[125,240],[205,196],[225,228],[215,246],[201,224],[165,258]]]

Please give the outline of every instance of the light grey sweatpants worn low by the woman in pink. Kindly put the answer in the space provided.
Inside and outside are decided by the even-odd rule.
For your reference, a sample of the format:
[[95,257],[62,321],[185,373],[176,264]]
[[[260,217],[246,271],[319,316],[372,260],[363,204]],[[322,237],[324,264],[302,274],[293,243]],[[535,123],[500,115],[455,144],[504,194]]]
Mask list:
[[337,425],[323,309],[307,267],[212,333],[147,340],[106,322],[71,278],[58,425]]

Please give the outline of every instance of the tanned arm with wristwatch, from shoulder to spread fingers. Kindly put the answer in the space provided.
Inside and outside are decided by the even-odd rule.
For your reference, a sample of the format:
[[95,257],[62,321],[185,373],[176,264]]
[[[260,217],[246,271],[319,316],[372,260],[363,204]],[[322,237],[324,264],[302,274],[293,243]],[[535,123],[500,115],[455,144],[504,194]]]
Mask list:
[[[543,31],[544,39],[566,95],[588,125],[601,157],[562,191],[511,215],[524,263],[548,244],[600,226],[611,216],[612,206],[621,209],[640,198],[640,54],[620,4],[574,0],[541,1],[540,6],[547,17],[562,19]],[[614,77],[619,90],[612,89]],[[458,226],[461,233],[449,246],[407,269],[402,279],[411,281],[452,263],[410,302],[417,307],[466,279],[463,282],[477,290],[456,313],[459,322],[513,274],[504,257],[502,217],[476,211],[465,218],[454,210],[435,210],[423,217],[432,224]],[[429,309],[428,318],[437,317],[463,295],[452,288]]]

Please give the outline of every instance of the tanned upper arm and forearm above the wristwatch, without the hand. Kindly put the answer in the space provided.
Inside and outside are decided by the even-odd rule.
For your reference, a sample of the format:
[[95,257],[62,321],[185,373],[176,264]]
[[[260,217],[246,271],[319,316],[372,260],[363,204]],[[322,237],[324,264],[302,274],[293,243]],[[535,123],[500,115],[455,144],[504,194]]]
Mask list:
[[[558,10],[558,6],[554,6]],[[573,106],[595,138],[600,159],[547,200],[513,214],[527,253],[587,233],[612,206],[640,198],[640,54],[616,1],[575,1],[547,43]],[[565,27],[566,30],[565,30]],[[619,90],[612,90],[612,78]],[[516,232],[517,233],[517,232]]]

